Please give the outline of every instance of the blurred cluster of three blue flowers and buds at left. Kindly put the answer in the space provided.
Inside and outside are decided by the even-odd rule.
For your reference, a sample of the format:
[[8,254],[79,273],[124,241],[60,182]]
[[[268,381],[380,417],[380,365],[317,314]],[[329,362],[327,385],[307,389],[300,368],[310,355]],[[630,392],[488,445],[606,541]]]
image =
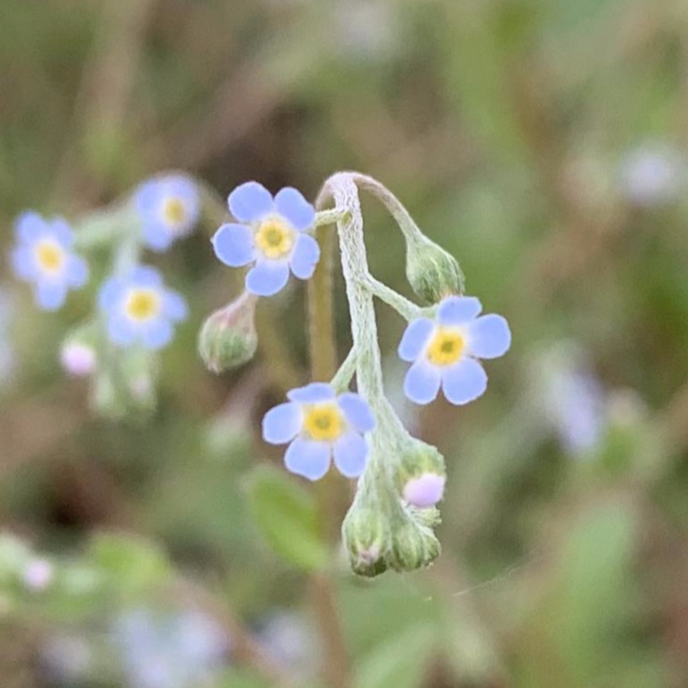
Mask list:
[[[200,210],[197,182],[164,174],[141,183],[126,202],[74,225],[35,212],[16,221],[13,272],[31,283],[44,310],[56,311],[70,290],[85,286],[89,268],[81,252],[110,251],[111,272],[96,287],[93,314],[67,333],[59,357],[69,375],[94,378],[93,403],[101,412],[117,407],[119,415],[144,398],[153,406],[156,366],[150,352],[172,340],[174,324],[187,309],[160,273],[143,264],[141,254],[146,248],[164,251],[189,234]],[[126,398],[122,391],[128,391]]]

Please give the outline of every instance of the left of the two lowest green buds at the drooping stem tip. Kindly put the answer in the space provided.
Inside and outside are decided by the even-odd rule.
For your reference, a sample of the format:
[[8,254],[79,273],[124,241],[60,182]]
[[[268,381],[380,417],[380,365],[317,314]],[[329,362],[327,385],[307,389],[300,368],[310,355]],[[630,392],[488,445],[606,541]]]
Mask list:
[[341,534],[354,573],[373,578],[387,569],[389,534],[379,511],[354,503],[341,526]]

